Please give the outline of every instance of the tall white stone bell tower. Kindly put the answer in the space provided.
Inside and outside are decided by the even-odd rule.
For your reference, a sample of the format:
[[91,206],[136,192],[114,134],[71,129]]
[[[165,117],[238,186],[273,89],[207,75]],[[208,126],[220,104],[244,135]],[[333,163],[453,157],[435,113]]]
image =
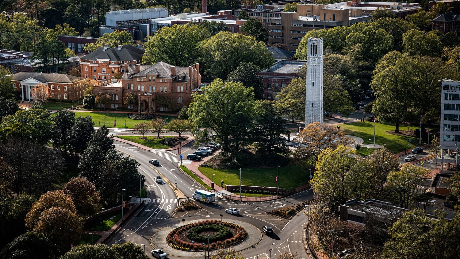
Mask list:
[[308,39],[307,75],[305,92],[305,127],[319,121],[323,123],[322,107],[322,38]]

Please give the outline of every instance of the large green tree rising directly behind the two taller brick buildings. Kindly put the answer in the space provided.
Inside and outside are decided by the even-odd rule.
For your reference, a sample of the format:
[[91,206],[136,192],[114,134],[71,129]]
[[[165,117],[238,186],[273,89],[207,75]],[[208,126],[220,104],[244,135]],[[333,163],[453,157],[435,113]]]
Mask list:
[[153,65],[160,61],[173,66],[188,67],[197,57],[197,43],[211,34],[196,24],[163,27],[144,44],[144,64]]

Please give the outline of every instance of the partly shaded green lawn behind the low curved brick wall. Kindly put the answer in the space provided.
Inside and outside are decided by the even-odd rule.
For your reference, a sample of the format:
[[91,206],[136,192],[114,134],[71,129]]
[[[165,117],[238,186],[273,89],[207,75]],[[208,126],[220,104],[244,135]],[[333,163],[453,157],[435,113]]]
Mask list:
[[[198,167],[201,173],[211,179],[214,175],[214,182],[219,183],[224,180],[224,184],[240,185],[240,170],[238,169],[214,169],[208,167]],[[242,185],[256,185],[276,187],[275,182],[276,168],[242,168],[241,183]],[[308,181],[305,168],[298,166],[280,167],[279,170],[279,187],[284,190],[290,190],[307,184]]]

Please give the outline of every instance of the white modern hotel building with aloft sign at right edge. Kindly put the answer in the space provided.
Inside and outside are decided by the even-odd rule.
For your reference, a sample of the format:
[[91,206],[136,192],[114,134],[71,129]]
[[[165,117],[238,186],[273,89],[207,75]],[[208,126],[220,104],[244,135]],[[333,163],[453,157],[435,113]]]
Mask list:
[[440,144],[443,152],[436,161],[455,163],[453,152],[460,141],[460,81],[444,79],[441,89]]

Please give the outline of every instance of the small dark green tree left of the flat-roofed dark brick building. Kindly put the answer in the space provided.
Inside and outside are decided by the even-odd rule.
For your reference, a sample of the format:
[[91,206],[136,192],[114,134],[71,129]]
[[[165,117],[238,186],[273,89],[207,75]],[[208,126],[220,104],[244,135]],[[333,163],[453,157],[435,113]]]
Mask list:
[[257,75],[259,67],[253,63],[240,63],[227,77],[227,81],[243,83],[244,87],[253,87],[256,100],[264,98],[264,83],[262,77]]

